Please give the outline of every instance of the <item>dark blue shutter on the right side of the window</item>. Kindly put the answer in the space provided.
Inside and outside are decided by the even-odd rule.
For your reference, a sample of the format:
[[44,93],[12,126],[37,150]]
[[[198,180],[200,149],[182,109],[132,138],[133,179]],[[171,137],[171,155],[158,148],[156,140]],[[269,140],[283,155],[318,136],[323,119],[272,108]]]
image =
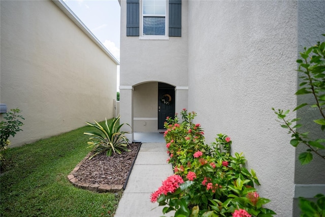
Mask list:
[[182,1],[169,0],[169,36],[181,37]]

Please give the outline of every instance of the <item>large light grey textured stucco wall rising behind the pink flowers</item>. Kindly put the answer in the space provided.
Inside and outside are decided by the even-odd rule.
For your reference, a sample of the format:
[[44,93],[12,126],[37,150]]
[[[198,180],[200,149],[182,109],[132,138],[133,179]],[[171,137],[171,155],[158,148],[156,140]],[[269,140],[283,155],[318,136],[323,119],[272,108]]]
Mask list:
[[[244,152],[277,216],[292,216],[295,149],[271,110],[296,107],[297,2],[189,1],[188,109]],[[202,106],[204,105],[204,106]]]

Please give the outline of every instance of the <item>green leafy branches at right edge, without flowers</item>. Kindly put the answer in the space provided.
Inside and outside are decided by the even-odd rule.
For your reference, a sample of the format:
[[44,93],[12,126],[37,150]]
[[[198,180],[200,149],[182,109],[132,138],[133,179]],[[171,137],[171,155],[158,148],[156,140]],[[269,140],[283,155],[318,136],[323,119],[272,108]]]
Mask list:
[[[325,36],[325,35],[322,35]],[[325,42],[317,42],[315,46],[308,49],[304,48],[304,52],[300,53],[301,59],[297,59],[299,64],[298,73],[302,76],[300,83],[300,89],[296,92],[296,95],[312,94],[315,104],[310,106],[311,110],[317,110],[320,112],[322,118],[313,120],[317,125],[320,125],[322,131],[325,130]],[[303,103],[297,106],[293,111],[299,110],[308,105]],[[306,152],[299,154],[299,161],[302,165],[308,164],[312,161],[315,153],[321,159],[325,160],[325,155],[320,153],[320,150],[325,149],[323,145],[325,138],[319,138],[316,140],[309,140],[308,133],[298,132],[298,128],[302,127],[300,123],[296,123],[301,118],[295,118],[293,120],[287,119],[286,116],[290,112],[289,110],[283,111],[282,109],[275,110],[272,108],[278,118],[281,120],[281,127],[288,129],[288,134],[291,134],[293,139],[290,140],[290,144],[297,147],[300,143],[305,144],[308,148]]]

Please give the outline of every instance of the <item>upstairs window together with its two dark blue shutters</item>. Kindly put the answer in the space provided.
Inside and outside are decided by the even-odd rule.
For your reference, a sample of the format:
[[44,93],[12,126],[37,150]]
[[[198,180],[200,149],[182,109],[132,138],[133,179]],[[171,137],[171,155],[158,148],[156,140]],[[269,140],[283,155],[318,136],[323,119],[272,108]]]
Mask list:
[[181,0],[126,0],[126,7],[126,36],[181,37]]

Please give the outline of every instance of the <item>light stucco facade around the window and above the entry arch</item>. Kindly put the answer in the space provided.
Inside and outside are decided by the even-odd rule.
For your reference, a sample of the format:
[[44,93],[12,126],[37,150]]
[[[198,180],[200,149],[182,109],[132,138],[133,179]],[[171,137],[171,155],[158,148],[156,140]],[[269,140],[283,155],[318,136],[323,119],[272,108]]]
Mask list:
[[182,37],[140,40],[126,36],[126,1],[121,1],[120,85],[159,81],[187,86],[187,1],[182,2]]

